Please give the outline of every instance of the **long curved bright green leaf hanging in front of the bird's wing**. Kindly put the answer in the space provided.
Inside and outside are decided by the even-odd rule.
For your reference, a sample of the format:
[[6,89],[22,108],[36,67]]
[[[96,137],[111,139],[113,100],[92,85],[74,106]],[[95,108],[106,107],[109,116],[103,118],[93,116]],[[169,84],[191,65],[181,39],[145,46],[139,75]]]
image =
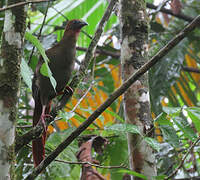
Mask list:
[[26,40],[30,41],[39,50],[42,58],[44,59],[44,63],[42,64],[40,72],[42,75],[50,78],[51,84],[55,90],[56,89],[56,80],[52,76],[52,72],[48,66],[49,59],[48,59],[48,57],[45,53],[45,50],[42,47],[40,41],[35,36],[33,36],[32,34],[30,34],[28,32],[25,33],[25,38],[26,38]]

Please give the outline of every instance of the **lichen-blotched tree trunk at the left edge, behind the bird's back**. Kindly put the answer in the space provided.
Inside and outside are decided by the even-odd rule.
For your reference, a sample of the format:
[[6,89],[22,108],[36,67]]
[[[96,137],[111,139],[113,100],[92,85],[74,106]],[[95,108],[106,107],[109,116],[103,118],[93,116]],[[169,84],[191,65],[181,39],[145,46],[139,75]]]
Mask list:
[[[21,2],[8,0],[7,5]],[[25,32],[24,7],[5,12],[0,56],[0,179],[14,179],[14,139]]]

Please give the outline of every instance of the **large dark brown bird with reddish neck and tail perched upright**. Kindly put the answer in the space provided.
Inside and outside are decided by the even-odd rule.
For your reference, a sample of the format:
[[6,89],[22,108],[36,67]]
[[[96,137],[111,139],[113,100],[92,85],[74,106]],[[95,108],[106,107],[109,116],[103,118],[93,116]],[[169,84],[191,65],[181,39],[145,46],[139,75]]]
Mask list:
[[81,29],[86,25],[88,25],[86,22],[79,19],[68,21],[60,42],[45,51],[50,60],[48,66],[52,72],[52,76],[56,80],[55,89],[49,77],[44,76],[40,72],[42,64],[44,63],[42,56],[40,56],[36,65],[32,80],[32,96],[35,101],[33,127],[41,123],[44,127],[44,131],[41,137],[32,141],[32,154],[35,167],[45,158],[47,130],[45,117],[50,116],[51,100],[65,89],[71,77],[75,64],[76,42]]

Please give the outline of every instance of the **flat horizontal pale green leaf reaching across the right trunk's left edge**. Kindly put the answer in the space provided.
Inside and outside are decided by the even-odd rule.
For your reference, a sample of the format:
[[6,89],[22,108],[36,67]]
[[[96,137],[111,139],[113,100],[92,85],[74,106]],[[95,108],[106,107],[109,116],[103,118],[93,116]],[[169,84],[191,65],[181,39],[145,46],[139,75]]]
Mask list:
[[137,126],[133,124],[114,124],[109,127],[105,127],[105,130],[120,131],[125,133],[141,134]]

